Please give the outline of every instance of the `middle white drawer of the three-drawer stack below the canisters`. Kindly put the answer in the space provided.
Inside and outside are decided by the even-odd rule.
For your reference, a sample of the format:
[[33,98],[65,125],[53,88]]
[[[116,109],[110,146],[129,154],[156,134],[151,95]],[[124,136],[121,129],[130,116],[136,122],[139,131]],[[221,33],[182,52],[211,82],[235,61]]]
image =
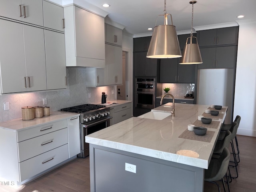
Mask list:
[[18,143],[19,162],[68,143],[67,128],[44,134]]

